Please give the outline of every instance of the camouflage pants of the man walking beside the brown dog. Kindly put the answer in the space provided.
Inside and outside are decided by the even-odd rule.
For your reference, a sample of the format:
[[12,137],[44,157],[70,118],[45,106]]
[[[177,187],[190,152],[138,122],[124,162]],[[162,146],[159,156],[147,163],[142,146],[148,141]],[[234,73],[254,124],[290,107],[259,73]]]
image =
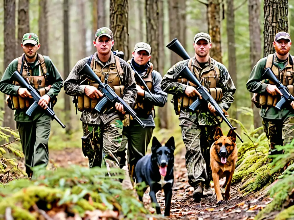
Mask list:
[[210,167],[210,146],[218,125],[196,126],[183,124],[182,138],[186,145],[186,168],[189,184],[194,187],[198,181],[209,185],[212,180]]

